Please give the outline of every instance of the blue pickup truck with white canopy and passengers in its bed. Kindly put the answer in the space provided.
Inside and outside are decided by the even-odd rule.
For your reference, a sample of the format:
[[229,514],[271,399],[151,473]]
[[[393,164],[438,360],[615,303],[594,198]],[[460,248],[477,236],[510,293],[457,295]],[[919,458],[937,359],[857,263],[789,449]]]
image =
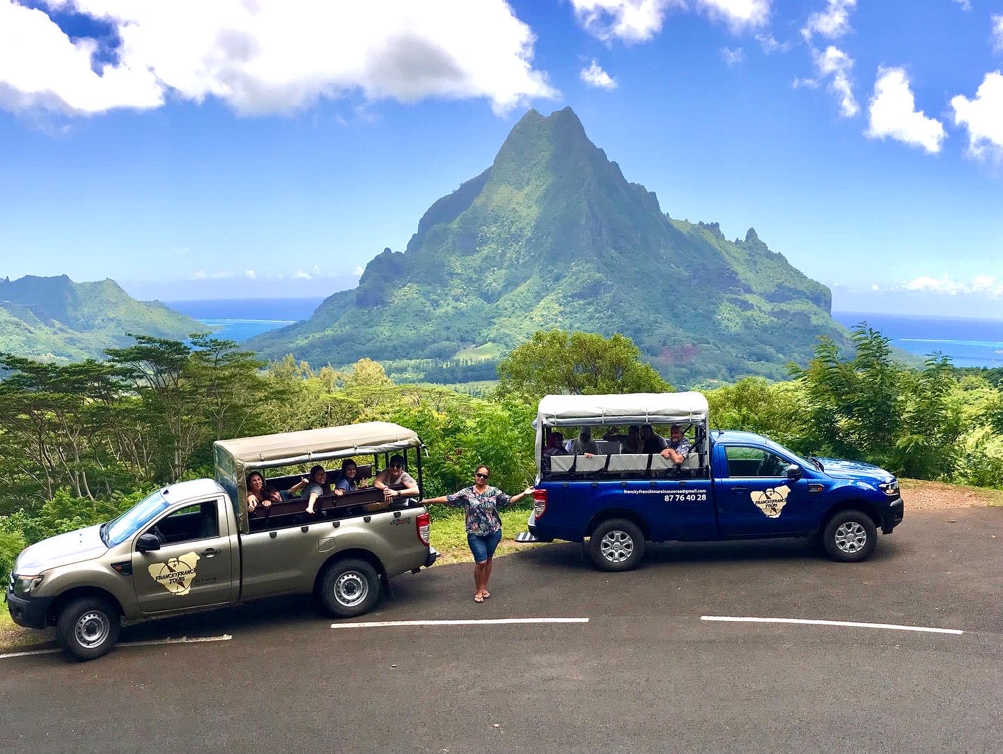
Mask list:
[[[874,551],[878,529],[889,534],[902,522],[888,471],[711,429],[707,413],[696,392],[546,396],[524,538],[587,541],[604,571],[635,568],[647,541],[775,536],[817,537],[832,558],[854,562]],[[673,434],[676,442],[666,439]],[[571,452],[564,435],[575,436]]]

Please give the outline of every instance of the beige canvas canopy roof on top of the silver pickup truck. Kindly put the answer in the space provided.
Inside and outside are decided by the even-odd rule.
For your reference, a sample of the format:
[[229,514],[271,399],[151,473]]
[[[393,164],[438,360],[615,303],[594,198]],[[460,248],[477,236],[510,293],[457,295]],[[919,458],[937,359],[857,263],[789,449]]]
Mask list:
[[367,421],[341,427],[217,440],[213,444],[218,452],[224,450],[229,453],[238,467],[252,469],[403,450],[418,447],[421,440],[413,430],[399,424]]

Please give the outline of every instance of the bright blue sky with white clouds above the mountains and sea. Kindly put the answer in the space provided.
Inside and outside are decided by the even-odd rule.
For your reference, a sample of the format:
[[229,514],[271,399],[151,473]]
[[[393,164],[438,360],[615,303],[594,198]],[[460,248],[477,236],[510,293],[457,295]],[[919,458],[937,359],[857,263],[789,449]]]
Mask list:
[[0,0],[0,276],[326,295],[571,105],[837,309],[1003,318],[1001,69],[986,0]]

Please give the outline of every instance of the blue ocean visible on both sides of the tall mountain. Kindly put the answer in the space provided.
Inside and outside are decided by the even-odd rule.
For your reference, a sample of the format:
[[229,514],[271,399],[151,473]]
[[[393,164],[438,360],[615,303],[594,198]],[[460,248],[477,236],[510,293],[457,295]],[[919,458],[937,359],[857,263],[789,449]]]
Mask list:
[[[245,341],[260,333],[305,320],[323,301],[313,299],[232,299],[168,301],[168,306],[214,328],[218,338]],[[847,327],[867,322],[892,345],[918,356],[939,351],[959,367],[1003,367],[1003,320],[920,315],[833,312]]]

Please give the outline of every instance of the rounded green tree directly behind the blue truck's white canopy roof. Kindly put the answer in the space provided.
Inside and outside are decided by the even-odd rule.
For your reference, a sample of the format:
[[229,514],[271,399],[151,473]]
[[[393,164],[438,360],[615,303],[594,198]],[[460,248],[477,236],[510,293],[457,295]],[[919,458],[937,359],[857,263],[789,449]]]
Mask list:
[[672,386],[630,338],[538,331],[498,364],[499,395],[537,401],[548,394],[664,393]]

